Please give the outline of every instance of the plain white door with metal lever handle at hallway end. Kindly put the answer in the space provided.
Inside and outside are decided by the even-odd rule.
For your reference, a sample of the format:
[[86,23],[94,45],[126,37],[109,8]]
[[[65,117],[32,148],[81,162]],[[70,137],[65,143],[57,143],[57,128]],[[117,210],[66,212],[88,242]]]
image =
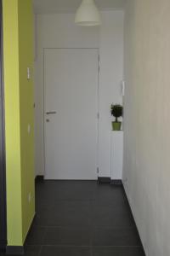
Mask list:
[[97,179],[98,49],[44,49],[46,179]]

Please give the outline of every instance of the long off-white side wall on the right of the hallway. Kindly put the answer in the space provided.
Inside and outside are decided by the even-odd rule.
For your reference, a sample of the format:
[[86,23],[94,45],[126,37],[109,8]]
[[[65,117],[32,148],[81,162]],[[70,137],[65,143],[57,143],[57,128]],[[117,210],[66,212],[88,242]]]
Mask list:
[[169,24],[169,0],[127,0],[123,178],[147,256],[170,255]]

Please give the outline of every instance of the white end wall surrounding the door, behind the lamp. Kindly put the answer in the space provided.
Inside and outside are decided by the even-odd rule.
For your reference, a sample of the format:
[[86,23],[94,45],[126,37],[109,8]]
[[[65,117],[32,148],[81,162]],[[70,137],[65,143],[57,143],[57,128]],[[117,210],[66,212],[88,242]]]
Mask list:
[[43,162],[43,49],[99,48],[99,170],[100,176],[111,176],[112,102],[122,102],[120,84],[123,59],[123,11],[102,12],[101,27],[74,24],[73,14],[37,15],[36,53],[36,171],[44,173]]

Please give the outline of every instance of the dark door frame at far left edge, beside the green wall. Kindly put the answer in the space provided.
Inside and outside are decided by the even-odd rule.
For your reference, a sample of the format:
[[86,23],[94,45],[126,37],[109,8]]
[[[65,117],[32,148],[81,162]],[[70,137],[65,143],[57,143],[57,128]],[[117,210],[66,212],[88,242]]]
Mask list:
[[4,83],[3,83],[3,1],[0,0],[0,90],[2,99],[0,101],[0,250],[7,246],[7,210],[6,210],[6,157],[5,157],[5,118],[4,118]]

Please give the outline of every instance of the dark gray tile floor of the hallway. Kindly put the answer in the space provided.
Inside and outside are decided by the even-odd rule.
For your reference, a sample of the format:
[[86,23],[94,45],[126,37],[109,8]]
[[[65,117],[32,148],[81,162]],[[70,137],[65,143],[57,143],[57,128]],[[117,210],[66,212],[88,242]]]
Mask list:
[[144,256],[122,186],[45,181],[26,256]]

